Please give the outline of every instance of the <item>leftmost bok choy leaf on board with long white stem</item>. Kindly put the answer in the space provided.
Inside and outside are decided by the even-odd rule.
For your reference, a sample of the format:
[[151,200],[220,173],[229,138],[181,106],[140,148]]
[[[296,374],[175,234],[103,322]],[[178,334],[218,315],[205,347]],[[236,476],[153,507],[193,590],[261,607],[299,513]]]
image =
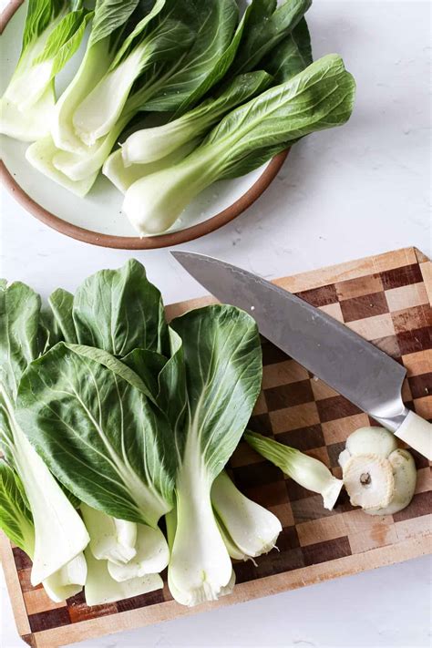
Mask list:
[[0,286],[0,447],[26,493],[35,527],[34,585],[85,549],[87,530],[77,511],[30,445],[16,415],[18,384],[45,347],[40,298],[24,283]]

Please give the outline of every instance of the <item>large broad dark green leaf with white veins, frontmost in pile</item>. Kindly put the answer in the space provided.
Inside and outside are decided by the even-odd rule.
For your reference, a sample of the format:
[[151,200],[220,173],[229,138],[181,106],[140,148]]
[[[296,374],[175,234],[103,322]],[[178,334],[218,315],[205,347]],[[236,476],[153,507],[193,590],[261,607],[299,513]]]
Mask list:
[[172,507],[175,458],[168,421],[146,392],[112,355],[59,343],[23,375],[18,415],[78,499],[155,528]]

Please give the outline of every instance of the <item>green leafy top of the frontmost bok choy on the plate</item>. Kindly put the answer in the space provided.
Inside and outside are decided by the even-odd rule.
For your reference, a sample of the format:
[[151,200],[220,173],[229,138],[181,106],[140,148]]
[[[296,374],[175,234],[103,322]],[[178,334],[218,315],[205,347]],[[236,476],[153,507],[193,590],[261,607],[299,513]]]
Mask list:
[[219,177],[234,178],[315,130],[345,124],[354,98],[354,78],[345,70],[342,58],[330,54],[233,110],[202,147],[216,146],[221,155],[225,151],[226,163]]

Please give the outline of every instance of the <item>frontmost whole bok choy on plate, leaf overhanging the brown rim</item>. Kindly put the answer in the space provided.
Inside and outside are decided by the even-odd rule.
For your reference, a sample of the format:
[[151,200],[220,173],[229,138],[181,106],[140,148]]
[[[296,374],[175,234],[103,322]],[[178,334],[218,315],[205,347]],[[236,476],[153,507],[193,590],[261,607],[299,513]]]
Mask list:
[[342,59],[323,57],[231,111],[180,163],[134,182],[122,209],[139,234],[166,231],[215,180],[248,173],[305,135],[344,124],[354,96]]

